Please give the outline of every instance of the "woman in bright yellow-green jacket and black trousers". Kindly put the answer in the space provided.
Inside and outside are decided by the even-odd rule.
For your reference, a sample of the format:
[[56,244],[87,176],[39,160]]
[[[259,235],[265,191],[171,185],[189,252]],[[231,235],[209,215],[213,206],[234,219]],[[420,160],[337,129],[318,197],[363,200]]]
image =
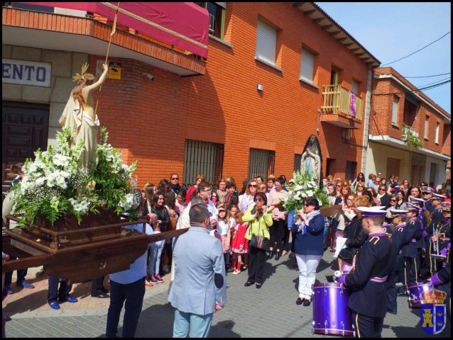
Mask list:
[[[254,181],[256,183],[256,181]],[[253,196],[254,204],[246,210],[242,217],[242,222],[249,222],[249,227],[246,231],[246,239],[251,240],[251,235],[255,234],[258,237],[270,239],[268,228],[271,227],[272,207],[267,207],[268,200],[265,193],[256,193]],[[261,288],[263,284],[264,264],[267,259],[266,249],[257,248],[249,244],[249,278],[244,284],[246,287],[256,283],[256,288]]]

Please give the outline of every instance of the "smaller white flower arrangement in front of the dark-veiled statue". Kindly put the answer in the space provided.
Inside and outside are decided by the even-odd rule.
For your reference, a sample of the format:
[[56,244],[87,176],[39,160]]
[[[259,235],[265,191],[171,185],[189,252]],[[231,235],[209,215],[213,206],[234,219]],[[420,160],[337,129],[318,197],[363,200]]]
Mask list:
[[320,208],[329,206],[329,199],[320,186],[318,186],[315,176],[308,171],[294,171],[293,179],[286,186],[288,198],[283,198],[281,202],[286,211],[297,211],[303,208],[305,198],[316,197],[320,203]]

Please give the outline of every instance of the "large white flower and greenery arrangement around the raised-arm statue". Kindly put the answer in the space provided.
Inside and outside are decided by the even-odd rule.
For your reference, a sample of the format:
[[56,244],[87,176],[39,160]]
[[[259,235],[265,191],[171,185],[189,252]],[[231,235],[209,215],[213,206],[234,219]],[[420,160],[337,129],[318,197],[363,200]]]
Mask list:
[[121,150],[107,144],[107,129],[101,128],[97,146],[98,164],[94,171],[80,166],[83,142],[70,148],[71,133],[65,128],[57,132],[57,145],[47,151],[38,149],[35,160],[23,165],[25,176],[13,187],[12,214],[20,217],[18,225],[33,225],[40,219],[52,225],[65,213],[81,222],[82,216],[107,208],[121,214],[129,213],[136,219],[140,198],[136,179],[132,178],[137,162],[123,164]]

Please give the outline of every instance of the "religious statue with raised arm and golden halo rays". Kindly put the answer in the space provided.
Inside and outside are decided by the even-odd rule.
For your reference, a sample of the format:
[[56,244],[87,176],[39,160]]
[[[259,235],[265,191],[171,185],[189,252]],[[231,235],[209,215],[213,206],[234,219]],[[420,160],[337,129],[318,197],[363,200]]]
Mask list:
[[91,84],[94,79],[92,74],[86,73],[88,64],[82,65],[82,74],[76,73],[72,81],[77,81],[77,86],[72,89],[67,100],[65,110],[58,122],[62,128],[70,128],[72,132],[72,145],[74,147],[79,140],[83,140],[84,150],[80,157],[81,165],[89,169],[97,165],[97,130],[99,119],[94,109],[92,91],[98,89],[107,78],[107,63],[102,65],[104,71],[98,81]]

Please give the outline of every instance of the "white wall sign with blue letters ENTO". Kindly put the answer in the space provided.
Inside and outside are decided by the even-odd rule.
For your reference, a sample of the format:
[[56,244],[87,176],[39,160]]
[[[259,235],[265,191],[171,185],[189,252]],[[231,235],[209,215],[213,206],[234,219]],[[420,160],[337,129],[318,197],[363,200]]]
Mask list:
[[50,87],[52,64],[27,60],[1,60],[1,82],[28,86]]

